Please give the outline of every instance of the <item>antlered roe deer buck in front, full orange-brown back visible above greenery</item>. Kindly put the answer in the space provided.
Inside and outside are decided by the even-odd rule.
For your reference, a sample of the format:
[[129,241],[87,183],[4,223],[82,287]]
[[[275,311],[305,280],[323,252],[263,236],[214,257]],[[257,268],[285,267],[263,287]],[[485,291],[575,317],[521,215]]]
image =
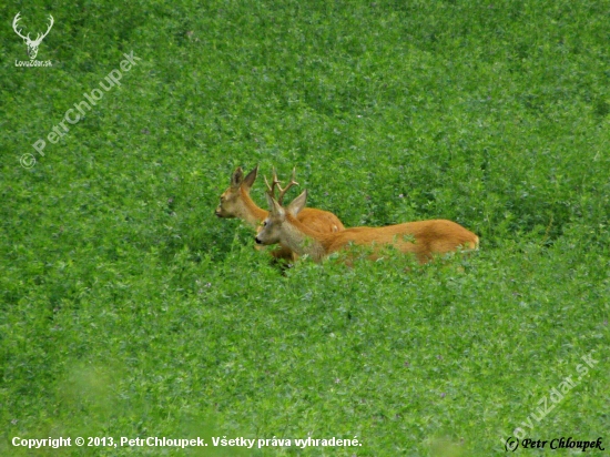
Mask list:
[[460,246],[476,250],[479,237],[461,225],[446,220],[407,222],[385,227],[354,227],[337,233],[319,233],[298,220],[305,206],[307,191],[303,191],[293,202],[283,207],[274,196],[274,189],[267,183],[270,215],[263,230],[256,235],[256,243],[281,243],[298,255],[309,255],[321,262],[328,254],[347,247],[349,244],[368,245],[374,248],[392,245],[404,253],[413,253],[420,263],[433,258],[434,254],[457,251]]

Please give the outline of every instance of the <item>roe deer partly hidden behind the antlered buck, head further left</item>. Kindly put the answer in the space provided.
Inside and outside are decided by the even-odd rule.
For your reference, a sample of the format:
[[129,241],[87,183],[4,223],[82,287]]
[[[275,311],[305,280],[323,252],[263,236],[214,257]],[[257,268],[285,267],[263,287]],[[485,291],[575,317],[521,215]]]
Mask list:
[[[242,167],[238,166],[231,176],[231,185],[221,195],[221,203],[216,207],[215,214],[218,217],[238,217],[250,225],[261,231],[261,222],[268,216],[268,211],[265,211],[256,205],[250,196],[250,189],[256,180],[258,165],[244,177]],[[295,181],[295,171],[291,182],[285,189],[279,186],[277,174],[273,171],[273,185],[279,189],[278,202],[282,203],[284,195],[293,185],[298,185]],[[298,221],[312,230],[319,233],[339,232],[345,230],[339,219],[328,211],[316,210],[313,207],[303,207],[297,216]],[[274,251],[272,255],[276,258],[296,258],[293,251],[281,244],[281,248]]]

